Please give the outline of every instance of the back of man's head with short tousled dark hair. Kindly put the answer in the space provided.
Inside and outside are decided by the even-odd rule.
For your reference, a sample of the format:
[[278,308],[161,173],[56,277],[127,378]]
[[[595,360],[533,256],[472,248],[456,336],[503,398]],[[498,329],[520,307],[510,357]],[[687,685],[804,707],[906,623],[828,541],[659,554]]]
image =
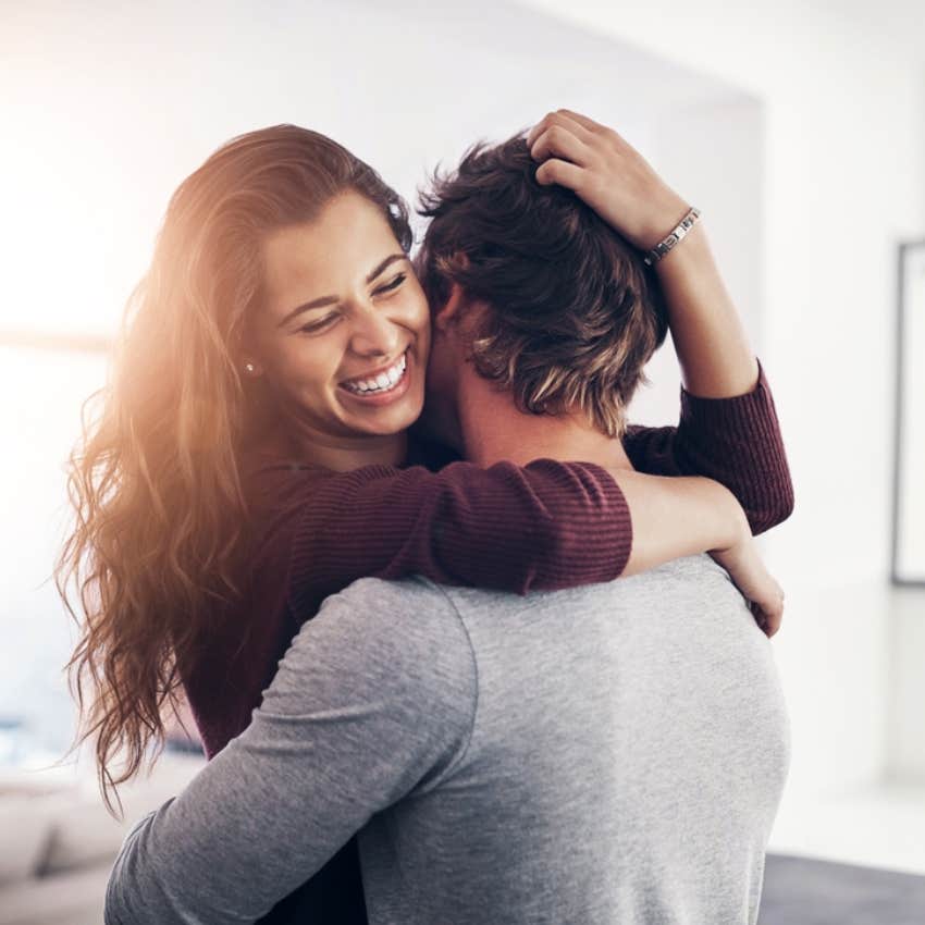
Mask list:
[[418,270],[435,344],[455,293],[479,374],[522,411],[580,411],[619,436],[667,332],[661,291],[634,248],[535,170],[520,136],[478,145],[422,195],[432,221]]

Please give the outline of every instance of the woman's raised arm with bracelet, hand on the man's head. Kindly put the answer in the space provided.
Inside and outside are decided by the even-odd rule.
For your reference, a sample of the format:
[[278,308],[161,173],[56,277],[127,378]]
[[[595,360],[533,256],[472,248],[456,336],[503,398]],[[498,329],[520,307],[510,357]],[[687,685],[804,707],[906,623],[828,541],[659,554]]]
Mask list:
[[[627,240],[651,249],[687,203],[617,133],[568,110],[550,113],[527,138],[536,177],[572,189]],[[793,485],[770,388],[694,225],[655,264],[686,388],[680,424],[631,428],[627,455],[641,471],[702,474],[732,491],[758,533],[785,520]]]

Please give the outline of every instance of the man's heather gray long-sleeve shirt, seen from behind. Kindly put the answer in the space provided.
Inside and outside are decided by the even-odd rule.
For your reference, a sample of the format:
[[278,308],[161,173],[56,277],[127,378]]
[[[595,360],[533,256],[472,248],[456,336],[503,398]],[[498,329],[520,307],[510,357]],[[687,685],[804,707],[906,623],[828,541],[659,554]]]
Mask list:
[[255,922],[360,830],[379,923],[754,923],[789,757],[707,556],[526,597],[363,579],[116,861],[107,925]]

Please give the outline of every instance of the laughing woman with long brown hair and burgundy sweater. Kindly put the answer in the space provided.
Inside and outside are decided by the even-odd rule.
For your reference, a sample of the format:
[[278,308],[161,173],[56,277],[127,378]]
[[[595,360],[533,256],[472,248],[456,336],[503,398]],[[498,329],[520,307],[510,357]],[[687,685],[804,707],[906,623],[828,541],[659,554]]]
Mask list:
[[[379,176],[294,126],[234,139],[174,195],[74,457],[77,528],[61,563],[62,593],[75,577],[86,612],[70,667],[78,695],[90,686],[84,736],[97,738],[107,795],[161,738],[181,681],[207,752],[223,748],[299,626],[361,576],[526,592],[726,546],[773,616],[776,585],[716,484],[550,460],[441,468],[445,452],[409,440],[430,348],[410,243]],[[765,458],[779,436],[763,395],[724,420],[741,445],[761,417],[749,433]],[[646,468],[648,454],[650,469],[670,459],[677,471],[687,443],[711,445],[690,417],[667,452],[664,432],[633,432],[633,462]],[[704,468],[736,484],[752,458],[724,465],[716,445]],[[786,516],[786,494],[760,526]],[[655,501],[676,505],[676,523],[650,522]],[[321,921],[361,921],[351,846],[303,900]]]

